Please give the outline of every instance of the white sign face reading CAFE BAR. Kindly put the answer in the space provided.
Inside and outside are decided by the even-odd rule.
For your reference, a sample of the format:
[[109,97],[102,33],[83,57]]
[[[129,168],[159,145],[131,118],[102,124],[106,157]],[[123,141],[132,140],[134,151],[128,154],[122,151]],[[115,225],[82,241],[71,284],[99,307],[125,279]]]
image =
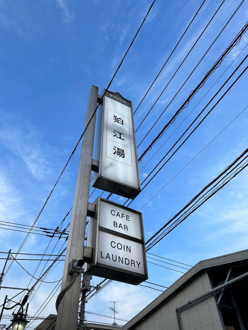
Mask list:
[[138,213],[102,200],[100,202],[99,225],[118,233],[142,239]]

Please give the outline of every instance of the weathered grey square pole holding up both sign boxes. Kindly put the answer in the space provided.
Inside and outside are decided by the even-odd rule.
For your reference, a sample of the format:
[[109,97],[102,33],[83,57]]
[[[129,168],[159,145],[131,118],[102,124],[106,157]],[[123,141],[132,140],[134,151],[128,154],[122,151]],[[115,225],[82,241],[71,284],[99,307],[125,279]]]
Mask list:
[[[97,97],[98,87],[92,85],[89,93],[85,127],[97,107]],[[96,114],[83,136],[61,289],[72,279],[72,275],[68,272],[69,262],[72,259],[83,259],[95,124]],[[77,329],[80,285],[81,276],[77,276],[76,281],[65,292],[59,304],[55,330]]]

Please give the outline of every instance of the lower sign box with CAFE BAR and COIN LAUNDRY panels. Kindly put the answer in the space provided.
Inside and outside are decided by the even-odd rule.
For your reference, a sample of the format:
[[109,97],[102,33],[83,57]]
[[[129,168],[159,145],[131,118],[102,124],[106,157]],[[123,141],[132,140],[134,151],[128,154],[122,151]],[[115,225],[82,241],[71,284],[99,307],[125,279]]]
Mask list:
[[135,285],[147,280],[142,213],[101,197],[94,203],[87,237],[92,263],[84,273]]

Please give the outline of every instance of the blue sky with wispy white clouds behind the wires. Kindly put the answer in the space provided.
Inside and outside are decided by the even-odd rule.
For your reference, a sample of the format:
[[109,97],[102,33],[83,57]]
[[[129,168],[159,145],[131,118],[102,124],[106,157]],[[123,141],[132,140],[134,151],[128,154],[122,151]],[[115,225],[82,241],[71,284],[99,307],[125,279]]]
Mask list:
[[[119,91],[124,97],[132,100],[134,110],[199,8],[200,3],[200,1],[194,0],[187,2],[156,0],[109,88],[111,91]],[[134,116],[136,127],[170,80],[220,3],[221,1],[206,0],[185,37],[136,112]],[[179,72],[137,131],[138,144],[239,3],[232,0],[224,2]],[[148,1],[0,1],[2,45],[0,50],[2,64],[0,76],[1,221],[27,225],[33,223],[83,131],[91,85],[98,86],[99,92],[108,85],[149,6]],[[141,155],[142,151],[146,149],[244,26],[247,14],[248,5],[247,1],[244,1],[197,70],[138,148],[138,155]],[[140,168],[165,142],[247,43],[248,35],[246,33],[204,87],[190,101],[189,106],[175,123],[147,153]],[[247,55],[247,51],[248,47],[230,65],[179,129],[145,166],[141,171],[142,181]],[[246,65],[245,63],[242,65],[231,82]],[[166,182],[248,105],[246,85],[247,73],[231,88],[130,207],[136,210],[143,207]],[[146,239],[247,148],[247,123],[248,109],[142,209]],[[56,228],[71,208],[79,152],[80,148],[69,162],[44,208],[37,226]],[[194,265],[202,259],[247,248],[247,181],[247,171],[245,170],[149,252]],[[90,197],[90,202],[93,202],[101,193],[96,190]],[[107,197],[106,192],[103,197]],[[116,196],[112,196],[111,200],[115,198]],[[122,197],[116,200],[120,204],[123,204],[124,201],[125,199]],[[69,220],[68,216],[64,222],[65,226]],[[1,251],[6,252],[10,248],[13,252],[17,251],[24,235],[24,233],[1,229]],[[22,252],[44,253],[49,240],[48,237],[31,234],[22,248]],[[55,239],[52,240],[48,253],[51,253],[56,242]],[[54,252],[58,252],[63,243],[64,241],[60,240]],[[38,265],[38,261],[23,260],[20,263],[30,273],[33,273]],[[0,270],[3,264],[4,260],[1,260]],[[44,264],[45,262],[42,262],[42,267],[39,266],[35,276],[39,275]],[[62,268],[61,262],[47,276],[46,280],[59,280],[62,276]],[[171,285],[181,276],[180,273],[152,264],[148,264],[148,273],[149,281],[165,286]],[[29,281],[30,276],[19,265],[13,264],[3,285],[26,287]],[[93,285],[99,282],[99,278],[93,279]],[[39,290],[35,291],[29,305],[29,315],[34,315],[54,286],[55,284],[43,283]],[[10,298],[16,293],[18,293],[16,290],[2,289],[0,300],[3,301],[6,294]],[[110,311],[105,309],[109,306],[109,301],[121,300],[118,303],[118,315],[121,318],[130,319],[158,294],[158,291],[149,288],[113,281],[96,297],[89,300],[86,310],[110,315]],[[49,305],[41,315],[47,316],[49,313],[55,313],[55,300],[51,301]],[[109,319],[100,316],[90,314],[86,314],[86,316],[88,320],[109,322]],[[37,322],[32,323],[30,328],[37,324]],[[119,324],[123,324],[123,322],[120,321]]]

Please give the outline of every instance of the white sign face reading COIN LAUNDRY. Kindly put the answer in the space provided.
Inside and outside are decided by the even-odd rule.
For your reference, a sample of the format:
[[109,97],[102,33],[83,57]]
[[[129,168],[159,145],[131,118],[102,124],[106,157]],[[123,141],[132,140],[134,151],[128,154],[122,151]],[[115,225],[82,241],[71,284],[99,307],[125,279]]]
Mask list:
[[99,230],[98,263],[144,275],[143,244]]

